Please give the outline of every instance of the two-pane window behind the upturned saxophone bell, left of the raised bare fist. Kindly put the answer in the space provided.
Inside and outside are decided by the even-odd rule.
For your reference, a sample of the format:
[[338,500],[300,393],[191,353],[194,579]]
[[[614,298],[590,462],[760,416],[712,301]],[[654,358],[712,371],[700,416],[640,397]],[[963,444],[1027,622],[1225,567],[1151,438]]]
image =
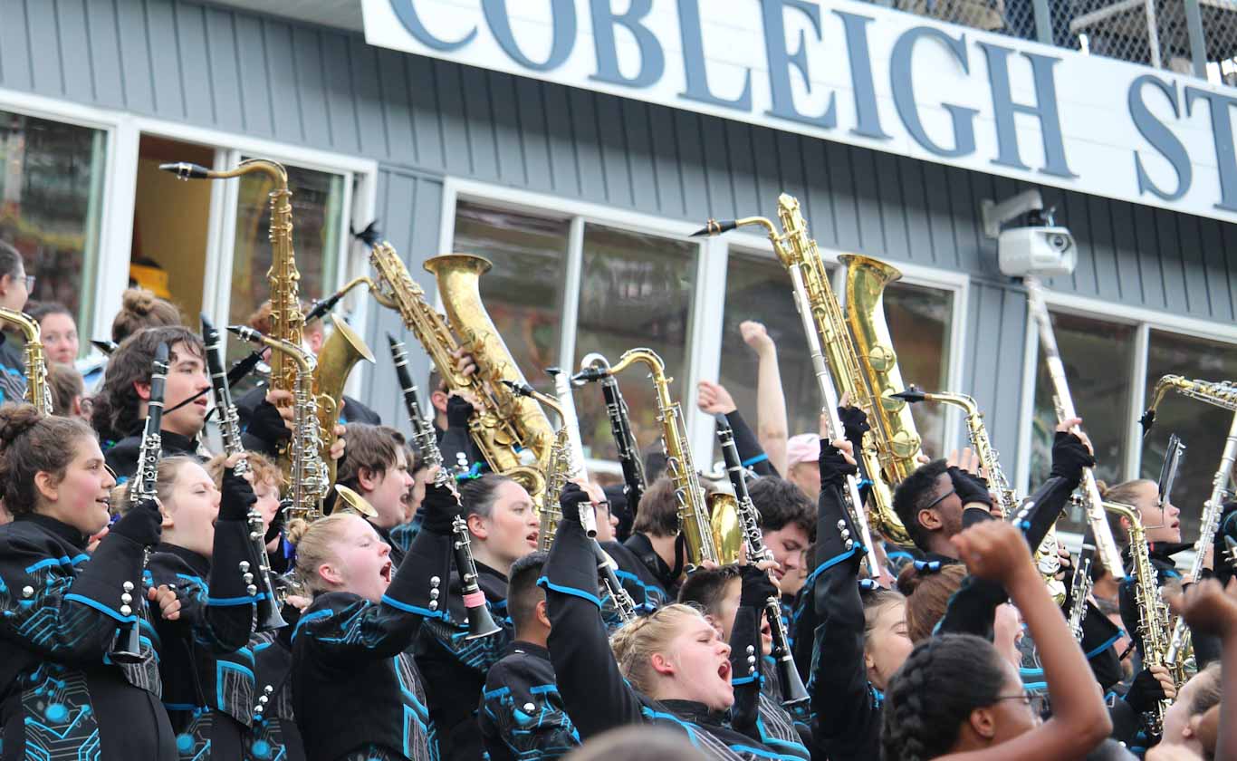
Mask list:
[[[666,363],[674,397],[689,397],[698,243],[461,198],[452,250],[494,264],[480,280],[486,312],[526,380],[541,391],[553,391],[547,368],[574,372],[586,354],[599,351],[617,363],[627,349],[644,346]],[[654,390],[646,375],[637,368],[620,377],[641,447],[661,441]],[[585,457],[612,460],[615,444],[600,390],[578,390],[575,407]]]

